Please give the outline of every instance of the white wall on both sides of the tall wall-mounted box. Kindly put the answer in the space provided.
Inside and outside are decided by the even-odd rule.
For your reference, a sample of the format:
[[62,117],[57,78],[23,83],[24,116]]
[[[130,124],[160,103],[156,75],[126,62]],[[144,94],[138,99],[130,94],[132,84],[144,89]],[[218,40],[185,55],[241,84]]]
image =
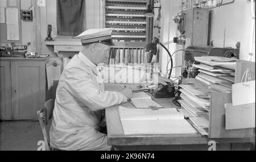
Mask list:
[[[173,53],[176,51],[175,44],[172,39],[177,36],[177,25],[172,20],[172,17],[181,11],[182,0],[162,0],[162,18],[161,22],[161,39],[168,50]],[[223,3],[230,2],[224,0]],[[212,10],[212,28],[210,40],[213,40],[216,47],[233,47],[236,48],[237,41],[241,42],[240,59],[247,60],[249,53],[250,31],[251,31],[251,11],[250,2],[247,0],[236,0],[233,4],[218,7]],[[224,39],[225,32],[225,39]],[[224,43],[225,40],[225,43]],[[254,29],[254,44],[255,44],[255,29]],[[160,47],[160,69],[165,74],[166,65],[169,59],[166,51]],[[255,45],[254,56],[251,61],[255,62]],[[178,55],[174,56],[174,66]],[[172,76],[175,76],[173,70]],[[177,70],[179,72],[179,70]],[[178,74],[177,74],[178,75]]]

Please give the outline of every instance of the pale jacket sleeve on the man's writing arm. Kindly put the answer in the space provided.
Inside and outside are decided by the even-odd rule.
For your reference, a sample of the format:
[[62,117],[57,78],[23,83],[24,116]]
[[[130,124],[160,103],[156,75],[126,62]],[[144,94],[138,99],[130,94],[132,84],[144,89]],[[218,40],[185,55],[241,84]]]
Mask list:
[[100,90],[93,82],[92,76],[84,70],[69,69],[65,73],[65,79],[68,92],[93,111],[127,101],[122,93]]

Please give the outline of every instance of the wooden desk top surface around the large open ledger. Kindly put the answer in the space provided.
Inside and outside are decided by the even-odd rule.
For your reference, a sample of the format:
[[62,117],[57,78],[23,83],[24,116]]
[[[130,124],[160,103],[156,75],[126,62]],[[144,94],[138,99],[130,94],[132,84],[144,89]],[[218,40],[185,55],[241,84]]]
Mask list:
[[[106,89],[108,90],[108,89]],[[172,98],[153,98],[164,107],[179,108],[172,103]],[[207,144],[210,140],[216,143],[251,143],[255,138],[209,139],[201,134],[159,134],[159,135],[125,135],[123,133],[118,107],[135,107],[130,102],[122,103],[105,109],[106,125],[108,130],[108,144],[110,146],[135,145],[170,145],[170,144]],[[190,121],[188,121],[190,122]]]

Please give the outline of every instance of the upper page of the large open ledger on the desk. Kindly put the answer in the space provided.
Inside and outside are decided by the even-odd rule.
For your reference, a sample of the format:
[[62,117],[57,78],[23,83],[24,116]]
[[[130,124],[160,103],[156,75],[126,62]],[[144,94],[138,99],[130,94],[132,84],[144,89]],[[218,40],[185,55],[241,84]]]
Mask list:
[[122,120],[180,120],[184,115],[179,113],[175,108],[172,109],[132,109],[119,106],[119,116]]

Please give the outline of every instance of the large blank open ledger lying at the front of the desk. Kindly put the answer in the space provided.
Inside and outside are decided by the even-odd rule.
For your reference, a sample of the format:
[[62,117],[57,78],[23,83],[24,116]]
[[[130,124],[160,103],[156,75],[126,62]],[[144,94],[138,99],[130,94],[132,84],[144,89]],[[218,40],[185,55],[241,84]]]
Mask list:
[[173,109],[130,109],[119,106],[123,132],[130,134],[196,134],[182,113]]

